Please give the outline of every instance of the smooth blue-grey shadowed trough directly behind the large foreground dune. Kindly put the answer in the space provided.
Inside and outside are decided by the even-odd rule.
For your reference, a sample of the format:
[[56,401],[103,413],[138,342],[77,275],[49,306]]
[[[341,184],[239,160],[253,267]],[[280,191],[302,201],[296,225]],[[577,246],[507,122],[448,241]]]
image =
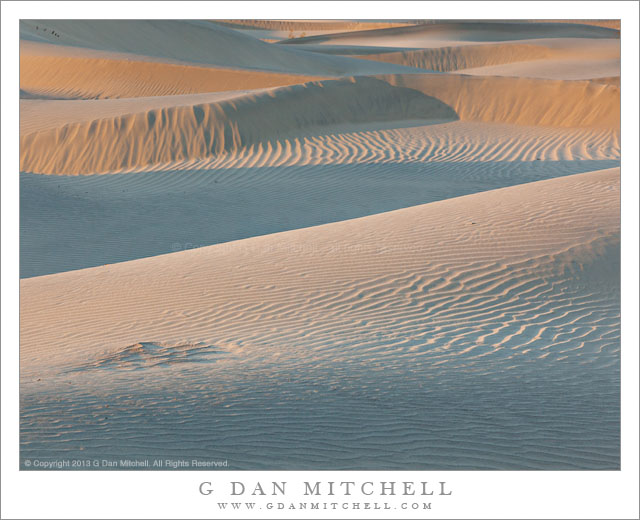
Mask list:
[[398,164],[390,159],[84,177],[21,174],[21,277],[173,253],[616,166],[616,160]]

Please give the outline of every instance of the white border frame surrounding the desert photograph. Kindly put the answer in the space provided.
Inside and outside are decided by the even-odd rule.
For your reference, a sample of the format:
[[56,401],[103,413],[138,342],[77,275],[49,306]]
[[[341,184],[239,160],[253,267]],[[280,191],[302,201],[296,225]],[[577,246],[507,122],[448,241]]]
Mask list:
[[[18,20],[20,18],[341,18],[622,20],[622,469],[616,472],[19,472]],[[363,16],[364,15],[364,16]],[[203,480],[447,481],[407,518],[638,518],[637,2],[3,2],[2,518],[216,518]],[[287,499],[295,498],[289,495]],[[373,500],[373,499],[372,499]],[[380,501],[380,497],[376,497]],[[263,518],[385,518],[384,511],[261,510]],[[229,512],[224,514],[229,515]],[[230,518],[246,517],[240,511]],[[400,511],[393,516],[400,518]],[[257,515],[254,515],[257,516]]]

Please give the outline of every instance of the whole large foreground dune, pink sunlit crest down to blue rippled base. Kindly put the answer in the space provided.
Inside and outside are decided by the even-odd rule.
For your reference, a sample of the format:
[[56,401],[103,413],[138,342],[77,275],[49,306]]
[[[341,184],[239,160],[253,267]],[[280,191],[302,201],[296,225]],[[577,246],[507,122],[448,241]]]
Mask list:
[[618,198],[596,172],[23,280],[23,451],[615,468]]

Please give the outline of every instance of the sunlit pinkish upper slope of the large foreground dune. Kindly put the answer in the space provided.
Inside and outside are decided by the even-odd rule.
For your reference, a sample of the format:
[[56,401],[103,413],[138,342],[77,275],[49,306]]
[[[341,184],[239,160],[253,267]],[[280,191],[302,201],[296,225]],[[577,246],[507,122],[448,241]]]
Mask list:
[[[311,341],[303,357],[312,356],[315,349],[326,354],[331,344],[309,337],[312,330],[322,331],[321,323],[347,326],[345,312],[354,319],[391,313],[396,323],[406,326],[414,319],[436,319],[437,309],[444,311],[449,305],[428,307],[425,314],[420,304],[434,298],[434,291],[450,294],[450,304],[469,299],[469,311],[482,315],[487,309],[473,303],[477,296],[487,291],[491,298],[508,303],[511,289],[503,284],[523,283],[511,275],[492,279],[498,272],[507,275],[507,265],[526,269],[521,263],[533,261],[525,277],[530,288],[542,282],[536,282],[542,273],[536,273],[535,264],[547,264],[565,275],[577,269],[579,282],[579,266],[570,261],[554,266],[554,258],[576,248],[582,248],[583,260],[598,256],[603,240],[617,240],[618,210],[619,169],[614,168],[22,280],[23,377],[36,369],[77,366],[152,337],[176,341],[188,335],[193,341],[246,343],[243,355],[249,358],[258,355],[254,348],[302,347]],[[477,284],[475,290],[457,287],[472,264],[482,263],[487,271],[469,280]],[[497,269],[493,274],[490,265]],[[447,274],[442,279],[436,272]],[[601,276],[616,272],[612,265]],[[456,307],[462,310],[453,305],[448,312]],[[338,314],[342,318],[333,321]],[[128,326],[118,325],[122,323]],[[499,324],[505,322],[500,319]],[[277,335],[274,327],[280,327]],[[353,331],[340,334],[352,336]],[[276,336],[286,342],[274,341]],[[424,340],[425,349],[377,348],[383,356],[439,353],[447,358],[462,353],[431,351],[427,346],[432,342],[428,336]],[[489,345],[490,350],[499,349],[496,343]]]

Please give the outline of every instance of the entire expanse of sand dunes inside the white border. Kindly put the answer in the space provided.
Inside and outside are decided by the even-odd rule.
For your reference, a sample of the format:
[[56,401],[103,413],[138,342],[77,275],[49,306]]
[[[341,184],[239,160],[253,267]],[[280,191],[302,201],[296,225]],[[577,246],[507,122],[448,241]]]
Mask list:
[[613,22],[21,22],[21,456],[619,469]]

